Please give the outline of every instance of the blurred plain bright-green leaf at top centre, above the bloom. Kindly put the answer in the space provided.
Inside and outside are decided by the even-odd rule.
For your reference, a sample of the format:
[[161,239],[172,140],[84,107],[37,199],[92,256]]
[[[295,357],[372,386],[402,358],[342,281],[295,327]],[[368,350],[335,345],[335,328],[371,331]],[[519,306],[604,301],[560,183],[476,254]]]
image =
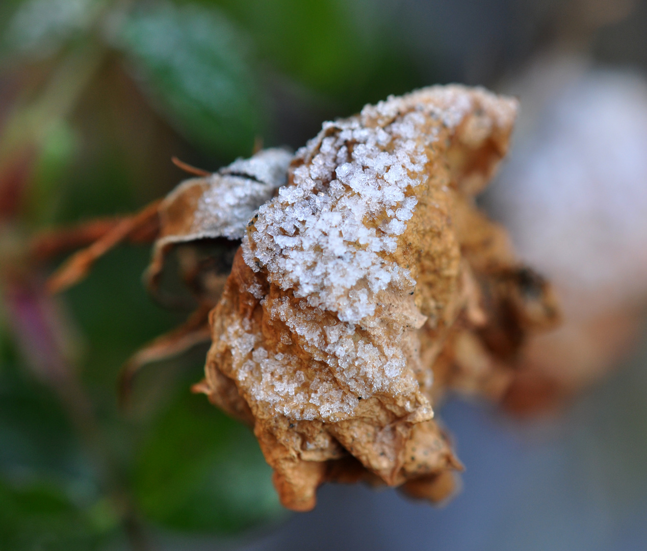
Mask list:
[[334,98],[338,115],[424,84],[388,15],[370,0],[203,1],[247,28],[275,69]]

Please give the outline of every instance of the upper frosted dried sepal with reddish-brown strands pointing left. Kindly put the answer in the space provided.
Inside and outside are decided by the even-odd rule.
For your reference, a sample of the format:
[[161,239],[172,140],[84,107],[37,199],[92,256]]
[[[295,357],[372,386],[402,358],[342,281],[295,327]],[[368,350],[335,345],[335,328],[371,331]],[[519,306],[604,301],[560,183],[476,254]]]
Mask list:
[[94,262],[124,240],[155,241],[147,277],[156,287],[166,253],[177,243],[223,238],[236,243],[245,224],[274,190],[285,183],[291,153],[280,148],[263,150],[250,159],[210,174],[177,159],[181,168],[201,175],[181,183],[166,198],[154,201],[131,216],[91,221],[67,231],[38,236],[32,246],[36,258],[61,249],[91,245],[74,254],[49,278],[52,293],[82,280]]

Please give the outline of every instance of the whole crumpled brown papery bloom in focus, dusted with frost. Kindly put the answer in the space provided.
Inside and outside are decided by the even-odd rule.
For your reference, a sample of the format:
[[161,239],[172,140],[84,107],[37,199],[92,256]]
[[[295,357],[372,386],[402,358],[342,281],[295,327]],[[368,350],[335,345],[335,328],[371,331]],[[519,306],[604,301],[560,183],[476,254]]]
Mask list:
[[326,122],[248,221],[199,390],[254,426],[287,508],[327,480],[447,497],[461,465],[432,405],[498,399],[526,335],[558,320],[474,203],[516,107],[430,87]]

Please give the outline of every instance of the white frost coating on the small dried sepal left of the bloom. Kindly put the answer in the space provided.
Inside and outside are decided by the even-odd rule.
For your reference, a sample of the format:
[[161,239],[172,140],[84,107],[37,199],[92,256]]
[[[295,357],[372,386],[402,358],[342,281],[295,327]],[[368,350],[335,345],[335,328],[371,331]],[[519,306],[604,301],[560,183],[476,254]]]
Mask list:
[[240,239],[259,205],[285,184],[291,153],[268,149],[251,159],[238,159],[208,179],[210,186],[198,203],[192,234]]

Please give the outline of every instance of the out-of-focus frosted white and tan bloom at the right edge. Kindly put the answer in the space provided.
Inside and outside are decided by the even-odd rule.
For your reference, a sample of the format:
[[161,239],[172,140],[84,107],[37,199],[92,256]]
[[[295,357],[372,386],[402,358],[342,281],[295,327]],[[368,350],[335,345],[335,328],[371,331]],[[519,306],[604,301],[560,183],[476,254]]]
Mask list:
[[627,350],[647,302],[647,80],[552,52],[507,91],[521,113],[485,203],[562,299],[527,366],[575,390]]

